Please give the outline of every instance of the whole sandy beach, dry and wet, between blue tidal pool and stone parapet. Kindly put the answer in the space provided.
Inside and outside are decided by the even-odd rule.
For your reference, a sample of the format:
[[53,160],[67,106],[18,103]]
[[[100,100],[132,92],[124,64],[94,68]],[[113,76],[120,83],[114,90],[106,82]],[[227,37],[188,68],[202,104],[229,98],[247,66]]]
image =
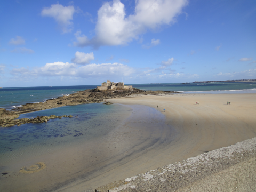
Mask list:
[[[254,93],[170,94],[108,99],[125,105],[131,116],[105,137],[87,142],[90,150],[82,145],[70,146],[65,153],[52,151],[51,155],[37,158],[45,162],[47,170],[25,177],[33,175],[35,182],[42,178],[41,190],[45,187],[45,191],[93,191],[113,181],[251,139],[256,137],[255,97]],[[227,105],[227,101],[231,104]],[[98,161],[91,160],[95,153],[98,159],[94,160]],[[63,159],[69,164],[60,164]],[[66,172],[70,172],[70,178],[57,177]],[[21,173],[16,179],[20,177]],[[27,179],[24,181],[30,185]]]

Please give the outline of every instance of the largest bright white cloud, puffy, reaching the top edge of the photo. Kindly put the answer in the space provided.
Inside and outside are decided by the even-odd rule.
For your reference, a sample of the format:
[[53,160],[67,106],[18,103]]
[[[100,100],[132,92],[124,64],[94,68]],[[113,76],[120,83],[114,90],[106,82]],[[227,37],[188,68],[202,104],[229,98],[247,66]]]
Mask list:
[[[137,0],[134,14],[126,16],[124,4],[119,0],[106,2],[98,11],[95,36],[88,39],[75,34],[74,46],[125,45],[148,29],[157,29],[163,25],[174,23],[175,17],[188,4],[187,0]],[[159,42],[154,40],[155,45]]]

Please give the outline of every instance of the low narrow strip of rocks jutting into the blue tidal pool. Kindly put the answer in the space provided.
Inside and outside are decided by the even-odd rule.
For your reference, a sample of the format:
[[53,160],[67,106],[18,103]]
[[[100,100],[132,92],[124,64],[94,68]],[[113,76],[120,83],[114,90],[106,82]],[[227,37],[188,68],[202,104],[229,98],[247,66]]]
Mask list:
[[37,116],[35,118],[21,118],[21,119],[0,119],[0,126],[2,127],[11,127],[14,125],[22,125],[26,123],[46,123],[49,121],[49,119],[54,119],[54,118],[62,118],[62,117],[73,117],[72,115],[62,115],[62,116],[56,116],[56,115],[51,115],[49,117],[47,116]]

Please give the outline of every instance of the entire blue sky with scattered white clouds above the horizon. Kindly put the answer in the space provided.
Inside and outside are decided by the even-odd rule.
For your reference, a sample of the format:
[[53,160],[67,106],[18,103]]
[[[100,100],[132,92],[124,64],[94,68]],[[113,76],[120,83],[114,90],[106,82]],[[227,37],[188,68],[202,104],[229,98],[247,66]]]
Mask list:
[[0,18],[0,87],[256,79],[255,0],[9,0]]

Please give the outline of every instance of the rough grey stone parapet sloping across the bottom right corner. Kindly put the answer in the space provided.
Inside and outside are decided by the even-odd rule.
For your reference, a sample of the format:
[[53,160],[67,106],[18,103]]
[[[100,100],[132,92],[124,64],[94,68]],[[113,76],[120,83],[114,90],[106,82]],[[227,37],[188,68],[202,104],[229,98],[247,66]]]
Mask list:
[[[189,186],[193,185],[193,183],[222,173],[225,170],[228,173],[233,169],[233,172],[235,170],[234,175],[239,175],[242,173],[237,171],[244,170],[245,168],[243,169],[243,166],[246,169],[252,169],[253,167],[255,169],[255,156],[256,138],[252,138],[229,147],[223,147],[185,159],[181,162],[159,167],[156,170],[109,183],[108,185],[95,189],[95,191],[191,191]],[[245,172],[247,173],[246,170]],[[248,191],[247,189],[250,189],[250,191],[253,191],[256,189],[253,184],[256,183],[255,171],[251,171],[250,174],[245,174],[243,177],[245,177],[243,181],[247,182],[249,180],[248,183],[251,183],[251,185],[246,185],[246,189],[241,190]],[[207,188],[205,190],[198,190],[197,188],[197,190],[193,191],[225,191],[227,189],[229,191],[239,191],[239,185],[230,185],[233,182],[232,179],[226,178],[222,188],[216,185],[218,183],[211,183],[210,181],[213,186],[211,190],[207,190]],[[215,182],[218,182],[218,179]],[[234,183],[236,182],[234,181]]]

